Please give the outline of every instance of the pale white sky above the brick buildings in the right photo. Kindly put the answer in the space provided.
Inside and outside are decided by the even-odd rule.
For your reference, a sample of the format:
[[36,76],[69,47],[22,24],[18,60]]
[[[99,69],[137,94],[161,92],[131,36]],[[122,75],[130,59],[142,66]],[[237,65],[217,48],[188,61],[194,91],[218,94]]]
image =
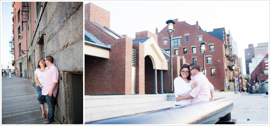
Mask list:
[[207,32],[215,28],[230,29],[238,45],[238,57],[245,70],[245,48],[248,44],[270,42],[269,1],[84,1],[111,13],[110,28],[118,34],[135,38],[139,31],[155,33],[169,19],[195,25],[196,21]]

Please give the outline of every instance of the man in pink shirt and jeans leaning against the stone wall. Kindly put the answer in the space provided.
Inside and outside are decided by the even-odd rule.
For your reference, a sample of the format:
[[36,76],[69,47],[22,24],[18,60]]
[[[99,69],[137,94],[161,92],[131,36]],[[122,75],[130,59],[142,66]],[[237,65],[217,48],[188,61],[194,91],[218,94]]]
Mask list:
[[39,93],[37,100],[47,103],[49,108],[49,116],[44,124],[49,124],[54,119],[56,103],[55,97],[58,90],[59,70],[56,66],[54,66],[52,56],[46,56],[45,63],[48,66],[48,69],[45,71],[44,86],[42,91]]

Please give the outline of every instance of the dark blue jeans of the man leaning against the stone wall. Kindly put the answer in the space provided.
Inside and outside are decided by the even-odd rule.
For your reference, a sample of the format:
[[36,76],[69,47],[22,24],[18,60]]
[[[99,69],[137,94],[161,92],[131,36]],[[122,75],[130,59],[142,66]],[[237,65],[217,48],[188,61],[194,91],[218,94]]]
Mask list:
[[55,111],[55,97],[52,94],[52,97],[47,95],[42,95],[42,92],[39,93],[39,97],[37,97],[37,100],[40,102],[47,103],[48,108],[49,108],[49,116],[47,118],[48,121],[53,121],[54,119],[54,111]]

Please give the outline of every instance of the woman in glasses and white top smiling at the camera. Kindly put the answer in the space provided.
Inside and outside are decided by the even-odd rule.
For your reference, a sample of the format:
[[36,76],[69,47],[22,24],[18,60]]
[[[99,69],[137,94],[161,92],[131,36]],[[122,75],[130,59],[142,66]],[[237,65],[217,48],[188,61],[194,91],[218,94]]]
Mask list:
[[[198,83],[196,81],[192,81],[191,74],[189,72],[189,65],[187,64],[183,64],[180,67],[180,75],[174,79],[173,84],[175,98],[177,98],[177,96],[185,96],[189,94],[193,88],[198,86]],[[183,99],[178,102],[175,101],[175,106],[187,104],[191,104],[191,99]]]

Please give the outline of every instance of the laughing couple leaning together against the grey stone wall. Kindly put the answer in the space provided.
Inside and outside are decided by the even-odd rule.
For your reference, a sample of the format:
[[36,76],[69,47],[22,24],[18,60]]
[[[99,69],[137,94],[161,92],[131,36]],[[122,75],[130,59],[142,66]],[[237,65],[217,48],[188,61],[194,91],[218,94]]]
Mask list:
[[58,76],[59,70],[53,64],[53,57],[46,56],[45,60],[41,58],[37,64],[37,69],[35,70],[35,82],[37,82],[37,100],[41,105],[42,116],[45,118],[44,103],[47,103],[47,120],[44,124],[49,124],[53,122],[54,111],[56,104],[56,94],[58,89]]

